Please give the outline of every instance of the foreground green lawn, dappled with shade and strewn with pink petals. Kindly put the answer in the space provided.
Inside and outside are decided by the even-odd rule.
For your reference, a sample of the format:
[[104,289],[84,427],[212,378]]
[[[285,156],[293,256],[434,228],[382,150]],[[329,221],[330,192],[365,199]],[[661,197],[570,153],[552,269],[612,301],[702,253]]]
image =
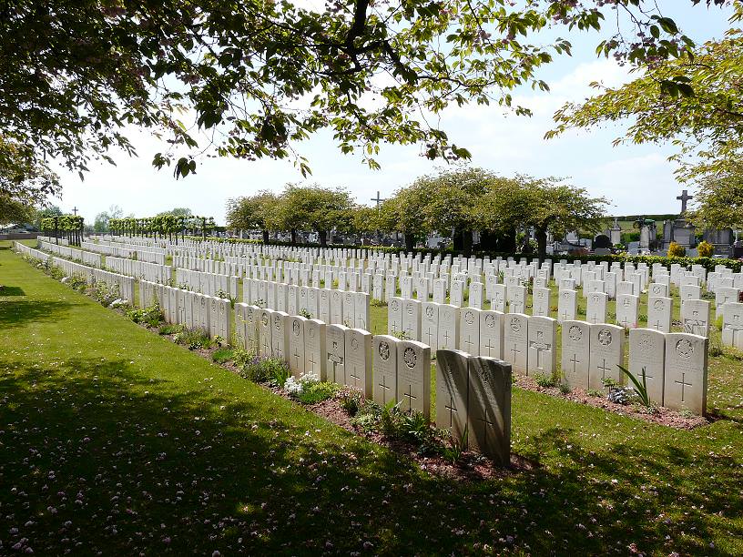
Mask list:
[[8,249],[0,284],[0,553],[743,553],[738,360],[710,372],[722,418],[691,431],[514,390],[536,467],[458,482]]

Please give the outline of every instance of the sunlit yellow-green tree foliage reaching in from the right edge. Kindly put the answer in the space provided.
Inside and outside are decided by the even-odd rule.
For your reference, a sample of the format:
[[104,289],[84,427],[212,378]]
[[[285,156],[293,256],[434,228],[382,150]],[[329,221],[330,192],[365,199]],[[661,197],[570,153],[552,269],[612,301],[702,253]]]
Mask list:
[[[731,24],[743,19],[734,3]],[[631,123],[615,144],[671,142],[682,181],[729,175],[743,156],[743,32],[692,49],[689,56],[652,60],[625,86],[606,88],[582,104],[568,103],[555,114],[555,137],[569,127],[596,127],[606,121]],[[734,170],[733,170],[734,171]]]

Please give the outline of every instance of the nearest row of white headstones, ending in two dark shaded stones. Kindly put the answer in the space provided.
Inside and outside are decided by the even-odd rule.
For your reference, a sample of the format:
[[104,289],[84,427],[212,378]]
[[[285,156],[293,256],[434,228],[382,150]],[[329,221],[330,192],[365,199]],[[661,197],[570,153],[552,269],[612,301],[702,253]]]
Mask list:
[[[285,360],[295,377],[348,385],[382,406],[393,402],[431,418],[431,347],[422,342],[244,303],[235,304],[233,321],[229,300],[147,281],[140,282],[140,297],[142,305],[158,301],[168,321],[211,335],[229,339],[234,325],[239,345]],[[509,460],[511,389],[509,363],[459,350],[437,352],[437,425],[502,464]]]

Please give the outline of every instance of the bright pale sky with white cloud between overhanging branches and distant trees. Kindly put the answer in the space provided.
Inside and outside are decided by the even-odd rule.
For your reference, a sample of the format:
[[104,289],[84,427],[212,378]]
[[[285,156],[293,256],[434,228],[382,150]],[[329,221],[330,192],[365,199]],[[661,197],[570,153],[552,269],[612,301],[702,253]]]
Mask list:
[[[658,2],[681,29],[699,42],[719,37],[728,27],[727,13],[695,7],[689,0]],[[516,173],[534,177],[565,177],[593,196],[606,197],[611,215],[676,213],[676,197],[681,186],[674,178],[673,154],[665,146],[619,146],[612,141],[622,135],[626,124],[606,125],[593,130],[571,130],[553,139],[544,139],[554,127],[555,110],[567,101],[579,102],[591,95],[592,81],[618,86],[631,76],[626,67],[613,59],[595,56],[597,35],[565,34],[573,45],[572,57],[560,57],[539,76],[550,92],[519,92],[515,101],[529,106],[534,116],[514,116],[499,106],[451,107],[443,112],[441,127],[458,146],[472,153],[470,164],[504,176]],[[132,130],[128,136],[138,157],[115,153],[117,166],[91,163],[91,171],[80,181],[76,174],[59,170],[63,184],[61,199],[52,202],[79,214],[92,223],[97,213],[112,205],[125,214],[149,217],[176,207],[190,208],[195,214],[213,216],[224,223],[225,202],[229,197],[249,196],[260,189],[279,192],[288,183],[318,183],[326,187],[347,187],[358,202],[372,205],[377,191],[382,198],[416,177],[446,167],[441,161],[421,157],[417,146],[382,146],[377,160],[380,170],[371,170],[358,155],[341,155],[331,133],[321,132],[296,147],[310,159],[312,176],[305,180],[290,161],[245,161],[229,158],[198,160],[197,174],[176,180],[172,168],[157,170],[151,161],[155,153],[167,149],[147,132]]]

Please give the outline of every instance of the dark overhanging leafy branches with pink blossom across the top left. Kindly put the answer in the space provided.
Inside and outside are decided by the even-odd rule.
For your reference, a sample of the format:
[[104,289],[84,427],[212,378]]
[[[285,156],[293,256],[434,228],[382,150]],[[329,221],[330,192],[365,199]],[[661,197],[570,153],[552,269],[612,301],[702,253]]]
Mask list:
[[57,159],[82,177],[112,147],[134,153],[126,127],[167,139],[153,163],[177,177],[204,152],[309,172],[293,146],[321,128],[371,167],[382,143],[466,158],[427,116],[452,103],[528,114],[512,91],[548,88],[540,66],[571,45],[545,37],[561,30],[595,30],[600,52],[631,63],[684,56],[672,15],[652,0],[20,0],[0,18],[0,168],[33,179]]

